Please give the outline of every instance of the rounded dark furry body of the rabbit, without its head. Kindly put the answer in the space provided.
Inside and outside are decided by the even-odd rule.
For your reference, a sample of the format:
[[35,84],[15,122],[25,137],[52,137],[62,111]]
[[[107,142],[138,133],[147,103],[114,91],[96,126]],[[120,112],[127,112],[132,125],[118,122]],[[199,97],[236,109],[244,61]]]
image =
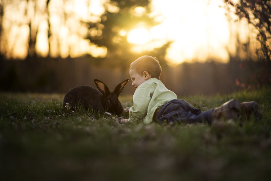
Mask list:
[[63,107],[65,107],[66,103],[69,103],[72,109],[83,105],[85,108],[91,108],[95,112],[104,112],[102,100],[103,94],[97,89],[87,85],[81,85],[67,92],[63,100]]

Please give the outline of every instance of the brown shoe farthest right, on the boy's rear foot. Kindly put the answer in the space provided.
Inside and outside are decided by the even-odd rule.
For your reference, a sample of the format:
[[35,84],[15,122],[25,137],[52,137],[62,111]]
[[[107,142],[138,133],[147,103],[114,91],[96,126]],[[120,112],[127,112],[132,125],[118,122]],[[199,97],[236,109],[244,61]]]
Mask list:
[[259,105],[255,101],[241,103],[241,114],[242,116],[245,116],[248,120],[251,117],[254,117],[256,121],[261,121],[262,115],[258,109]]

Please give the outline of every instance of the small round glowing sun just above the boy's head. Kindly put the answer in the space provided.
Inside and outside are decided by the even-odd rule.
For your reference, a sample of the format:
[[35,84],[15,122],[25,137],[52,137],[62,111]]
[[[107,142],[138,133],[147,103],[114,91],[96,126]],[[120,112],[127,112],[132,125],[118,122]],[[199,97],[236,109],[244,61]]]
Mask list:
[[128,32],[127,40],[129,43],[144,44],[150,39],[150,33],[145,28],[133,29]]

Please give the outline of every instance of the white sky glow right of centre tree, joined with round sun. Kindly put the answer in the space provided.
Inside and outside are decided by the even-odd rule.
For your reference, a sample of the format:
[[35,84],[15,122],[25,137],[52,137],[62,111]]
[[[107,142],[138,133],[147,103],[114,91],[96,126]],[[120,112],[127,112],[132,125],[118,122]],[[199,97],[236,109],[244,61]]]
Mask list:
[[235,46],[230,41],[233,25],[225,16],[223,1],[196,2],[153,0],[150,16],[155,17],[159,24],[147,29],[140,23],[128,31],[127,41],[134,44],[132,51],[152,51],[158,44],[163,46],[167,41],[172,41],[165,55],[169,64],[194,60],[205,62],[208,59],[228,62],[232,53],[230,50]]

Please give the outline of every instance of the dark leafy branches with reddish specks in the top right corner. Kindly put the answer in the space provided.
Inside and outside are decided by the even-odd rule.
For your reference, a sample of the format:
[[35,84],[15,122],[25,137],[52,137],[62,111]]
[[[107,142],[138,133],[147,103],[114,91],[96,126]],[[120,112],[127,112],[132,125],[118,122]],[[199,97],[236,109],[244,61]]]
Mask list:
[[[245,18],[258,31],[257,40],[261,43],[261,50],[265,59],[271,62],[271,1],[269,0],[240,0],[234,3],[224,0],[229,6],[235,8],[239,19]],[[259,52],[256,52],[259,55]]]

